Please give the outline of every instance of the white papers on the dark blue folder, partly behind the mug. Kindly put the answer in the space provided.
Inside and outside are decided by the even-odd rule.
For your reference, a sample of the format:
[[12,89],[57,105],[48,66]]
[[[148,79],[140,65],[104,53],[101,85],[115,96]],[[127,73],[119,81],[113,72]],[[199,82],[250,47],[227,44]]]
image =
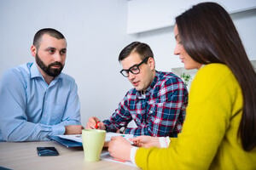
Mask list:
[[[68,140],[73,140],[73,141],[82,143],[82,135],[81,134],[67,134],[67,135],[57,135],[57,136],[60,137],[61,139],[68,139]],[[114,136],[122,136],[128,140],[133,138],[133,134],[106,133],[105,142],[110,141],[110,139]]]

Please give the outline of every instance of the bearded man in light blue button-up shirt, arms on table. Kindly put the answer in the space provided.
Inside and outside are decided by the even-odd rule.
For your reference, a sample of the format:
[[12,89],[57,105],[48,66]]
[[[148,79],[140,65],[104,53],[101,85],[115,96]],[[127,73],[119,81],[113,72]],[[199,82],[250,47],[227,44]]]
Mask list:
[[67,41],[60,31],[39,30],[33,39],[36,62],[6,71],[0,81],[0,140],[49,140],[81,133],[78,87],[61,73]]

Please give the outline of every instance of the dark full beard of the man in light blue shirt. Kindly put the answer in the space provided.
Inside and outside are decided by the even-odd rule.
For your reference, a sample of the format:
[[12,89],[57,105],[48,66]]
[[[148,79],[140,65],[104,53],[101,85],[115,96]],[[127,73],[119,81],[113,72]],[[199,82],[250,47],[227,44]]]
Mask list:
[[[50,77],[59,76],[61,74],[62,69],[63,69],[63,65],[58,61],[55,61],[54,63],[51,63],[48,66],[44,65],[44,62],[39,58],[38,53],[36,54],[36,62],[38,64],[38,66]],[[59,65],[61,67],[58,68],[58,69],[51,68],[51,66],[54,66],[54,65]]]

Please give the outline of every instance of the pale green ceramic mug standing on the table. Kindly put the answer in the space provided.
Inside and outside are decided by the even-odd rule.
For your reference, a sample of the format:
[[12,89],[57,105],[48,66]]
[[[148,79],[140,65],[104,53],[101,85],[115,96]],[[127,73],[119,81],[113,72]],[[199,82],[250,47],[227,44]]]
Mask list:
[[83,129],[82,139],[85,161],[99,161],[106,138],[106,131],[99,129]]

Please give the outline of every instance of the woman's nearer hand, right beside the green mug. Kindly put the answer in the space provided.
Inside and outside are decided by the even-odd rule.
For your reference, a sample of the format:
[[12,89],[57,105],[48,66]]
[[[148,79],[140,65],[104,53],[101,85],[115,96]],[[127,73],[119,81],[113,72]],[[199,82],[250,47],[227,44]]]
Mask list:
[[121,136],[112,137],[108,143],[108,151],[111,156],[125,161],[130,160],[131,144]]

